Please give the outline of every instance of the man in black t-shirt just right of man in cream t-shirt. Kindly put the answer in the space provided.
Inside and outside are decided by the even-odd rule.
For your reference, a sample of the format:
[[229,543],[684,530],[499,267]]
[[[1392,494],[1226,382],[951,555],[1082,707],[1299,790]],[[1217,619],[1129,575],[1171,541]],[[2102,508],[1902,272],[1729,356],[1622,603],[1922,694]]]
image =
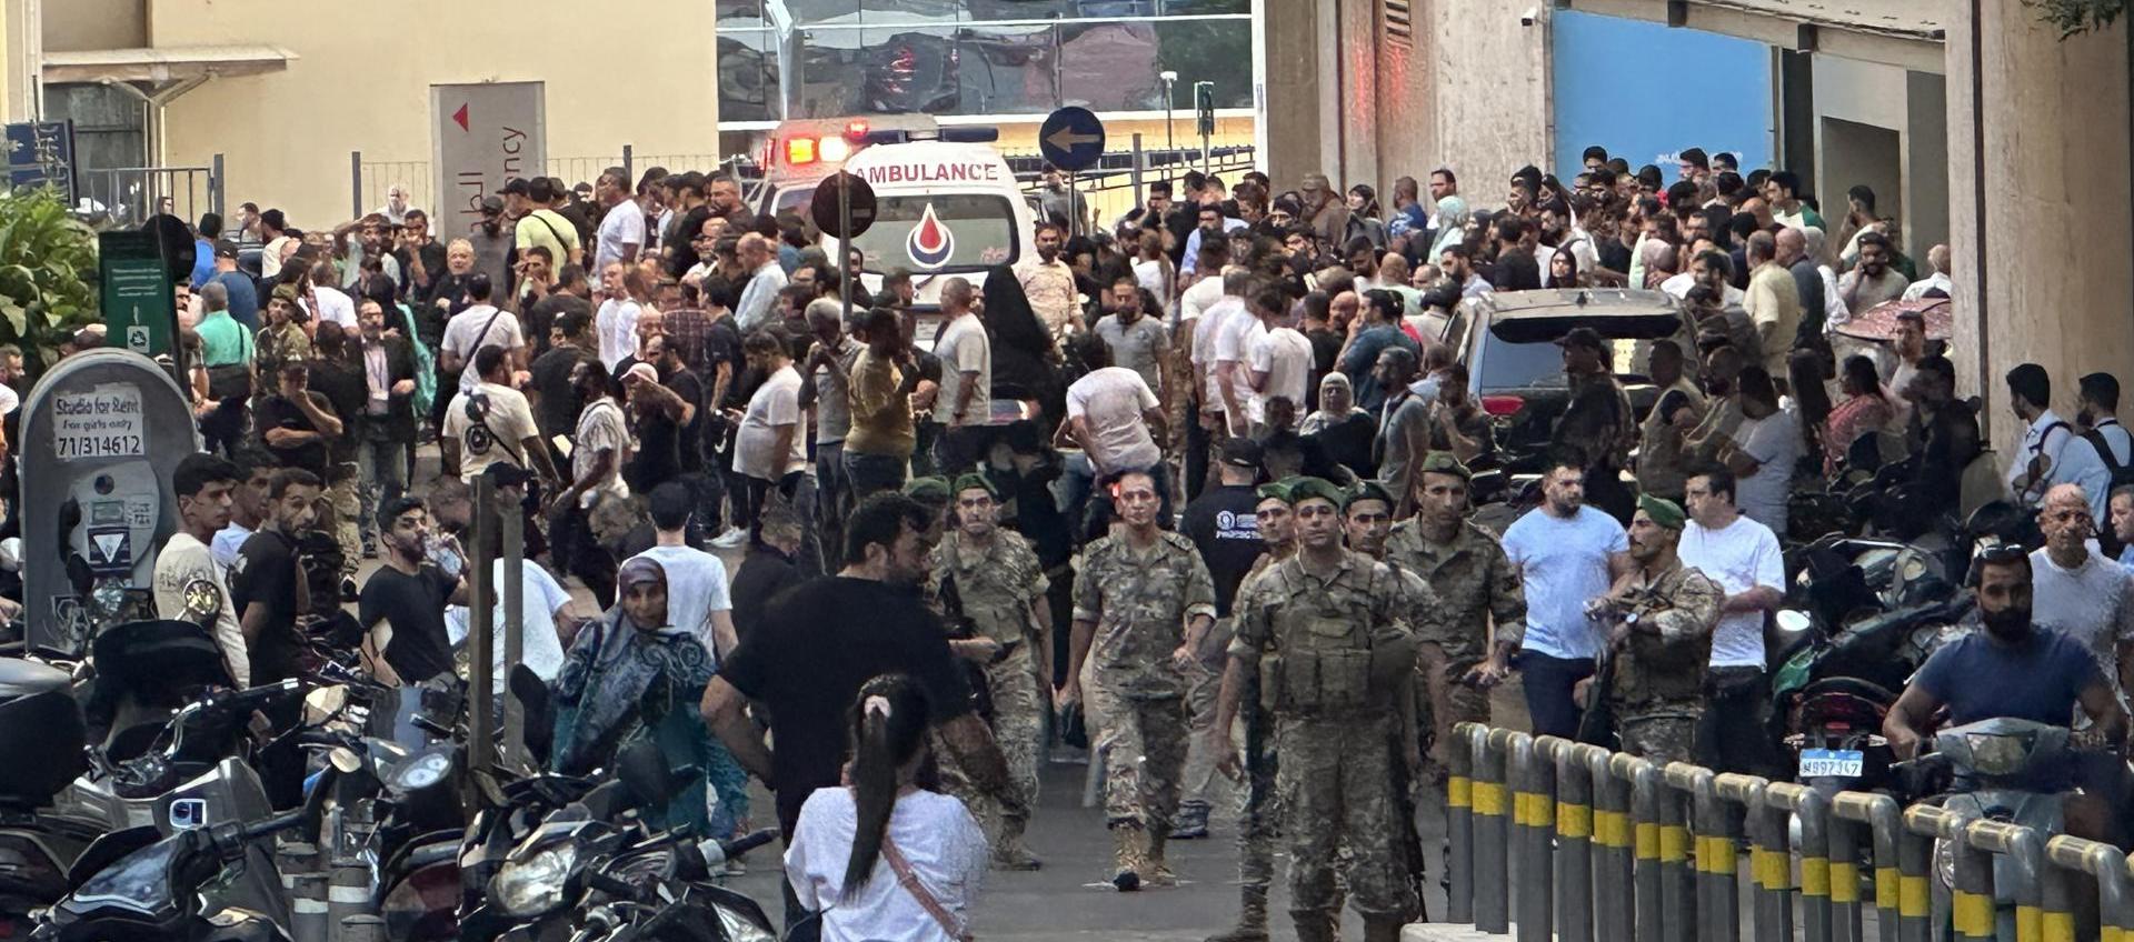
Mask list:
[[[301,371],[303,364],[297,364]],[[230,603],[252,654],[252,684],[294,678],[303,635],[297,616],[312,610],[312,592],[297,537],[318,520],[324,484],[312,471],[284,467],[267,488],[267,524],[245,537],[230,567]]]

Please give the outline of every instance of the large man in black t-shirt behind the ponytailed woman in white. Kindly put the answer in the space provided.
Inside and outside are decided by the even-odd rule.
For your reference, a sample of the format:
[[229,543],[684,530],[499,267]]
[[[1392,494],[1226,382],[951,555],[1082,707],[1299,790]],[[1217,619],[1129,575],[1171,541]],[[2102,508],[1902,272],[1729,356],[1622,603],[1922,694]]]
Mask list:
[[[1024,812],[1007,761],[971,712],[971,688],[950,654],[947,633],[920,597],[926,531],[926,509],[905,494],[862,501],[845,524],[845,569],[773,599],[762,624],[704,688],[704,720],[745,769],[777,791],[787,844],[800,803],[815,789],[841,782],[851,703],[862,684],[883,673],[918,682],[971,784]],[[770,710],[775,754],[745,714],[749,699]]]

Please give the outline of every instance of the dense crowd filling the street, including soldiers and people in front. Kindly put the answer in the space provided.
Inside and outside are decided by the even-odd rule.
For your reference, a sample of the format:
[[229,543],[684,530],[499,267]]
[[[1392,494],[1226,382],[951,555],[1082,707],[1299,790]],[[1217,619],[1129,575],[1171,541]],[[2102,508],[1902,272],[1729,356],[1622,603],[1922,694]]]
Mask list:
[[[1918,266],[1865,188],[1831,226],[1793,173],[1699,149],[1675,170],[1596,147],[1571,181],[1522,168],[1496,211],[1451,168],[1387,202],[1189,173],[1110,222],[1058,202],[1031,258],[945,277],[939,311],[723,175],[512,181],[444,245],[405,205],[331,232],[245,205],[201,220],[181,288],[209,452],[175,482],[158,590],[164,567],[228,586],[216,637],[250,684],[290,676],[303,633],[446,678],[489,475],[546,563],[521,575],[523,661],[557,691],[553,763],[653,737],[702,780],[672,814],[721,833],[768,784],[794,912],[954,938],[986,861],[1039,865],[1039,767],[1086,731],[1120,891],[1169,884],[1169,842],[1206,838],[1236,778],[1242,921],[1214,938],[1265,938],[1280,840],[1300,938],[1334,938],[1347,899],[1391,940],[1419,906],[1408,791],[1494,686],[1519,678],[1534,733],[1607,705],[1628,752],[1769,772],[1765,624],[1782,550],[1820,535],[1788,520],[1799,484],[1878,475],[1865,514],[1916,533],[1976,477],[1927,337],[1948,249]],[[1511,454],[1449,313],[1605,286],[1665,292],[1684,332],[1564,332],[1568,407],[1545,454]],[[1840,330],[1878,309],[1886,341]],[[1620,373],[1656,388],[1645,416]],[[2083,586],[2040,590],[2036,620],[2117,686],[2119,386],[2083,377],[2066,422],[2042,369],[2006,381],[2040,586]],[[416,480],[429,439],[442,473]],[[1522,467],[1532,509],[1481,526],[1481,471]],[[728,578],[713,550],[736,548]]]

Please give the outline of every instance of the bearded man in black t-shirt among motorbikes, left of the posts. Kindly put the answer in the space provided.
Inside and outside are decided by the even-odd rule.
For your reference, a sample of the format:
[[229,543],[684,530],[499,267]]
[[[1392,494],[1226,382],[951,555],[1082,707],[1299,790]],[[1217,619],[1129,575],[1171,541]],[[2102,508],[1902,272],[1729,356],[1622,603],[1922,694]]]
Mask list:
[[[429,509],[420,497],[395,499],[380,520],[386,565],[363,584],[356,614],[363,663],[380,682],[420,684],[452,671],[444,607],[465,603],[465,582],[429,561]],[[446,550],[457,554],[452,543]]]

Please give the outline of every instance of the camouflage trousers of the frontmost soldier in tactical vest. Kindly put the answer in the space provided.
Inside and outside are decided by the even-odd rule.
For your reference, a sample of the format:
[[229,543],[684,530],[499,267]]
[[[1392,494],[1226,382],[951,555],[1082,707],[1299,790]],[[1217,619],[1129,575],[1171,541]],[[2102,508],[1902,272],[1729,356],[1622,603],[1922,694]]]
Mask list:
[[1283,757],[1274,789],[1289,838],[1289,912],[1340,908],[1336,850],[1347,893],[1366,919],[1406,919],[1417,899],[1396,848],[1394,716],[1276,716],[1274,750]]

